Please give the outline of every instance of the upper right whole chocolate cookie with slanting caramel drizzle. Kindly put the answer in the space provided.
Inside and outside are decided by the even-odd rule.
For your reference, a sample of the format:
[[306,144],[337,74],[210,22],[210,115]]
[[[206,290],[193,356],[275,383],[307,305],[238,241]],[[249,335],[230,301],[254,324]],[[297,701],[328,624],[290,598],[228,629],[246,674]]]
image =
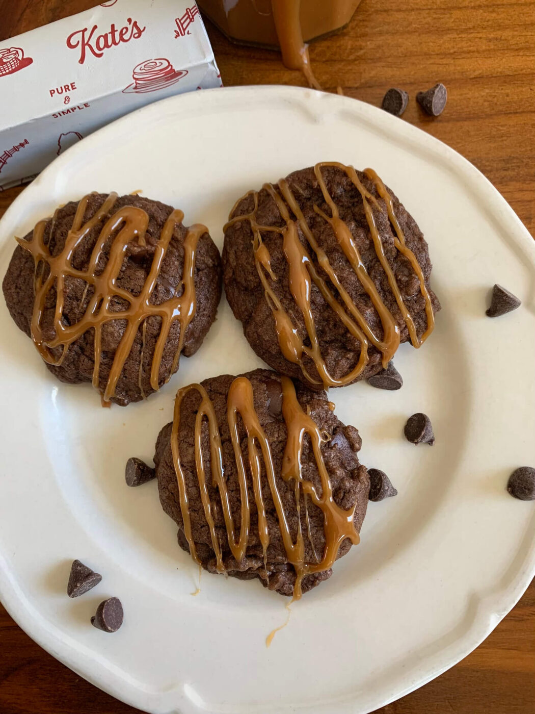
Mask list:
[[321,389],[386,368],[440,305],[427,243],[371,169],[317,164],[249,191],[225,226],[223,280],[253,350]]

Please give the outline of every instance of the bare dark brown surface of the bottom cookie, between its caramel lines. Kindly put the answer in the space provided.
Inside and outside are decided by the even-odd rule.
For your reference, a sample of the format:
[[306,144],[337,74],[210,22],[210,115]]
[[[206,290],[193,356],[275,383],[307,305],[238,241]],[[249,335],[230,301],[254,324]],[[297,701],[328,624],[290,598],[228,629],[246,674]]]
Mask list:
[[[245,377],[248,378],[252,385],[255,413],[258,415],[258,423],[269,443],[277,491],[280,493],[280,501],[284,508],[288,528],[295,542],[300,524],[304,539],[305,563],[318,563],[322,559],[327,542],[324,513],[312,503],[310,496],[307,496],[305,503],[304,492],[301,490],[299,498],[300,515],[298,515],[295,481],[293,479],[285,481],[281,476],[288,434],[282,414],[281,378],[271,371],[261,369],[250,372]],[[230,513],[233,518],[235,537],[238,538],[242,499],[240,496],[238,466],[230,437],[227,412],[228,393],[234,381],[235,378],[233,376],[223,375],[203,381],[202,386],[213,403],[215,418],[217,419]],[[300,407],[305,413],[310,414],[310,417],[324,435],[325,441],[323,441],[320,450],[327,469],[335,504],[337,508],[341,508],[344,511],[351,511],[352,508],[355,508],[353,523],[355,531],[358,532],[365,517],[370,488],[366,468],[359,463],[357,458],[357,451],[360,449],[358,431],[352,426],[345,426],[337,419],[324,392],[312,392],[298,385],[296,395]],[[200,409],[200,403],[201,396],[198,391],[189,391],[185,394],[180,406],[180,423],[176,443],[188,493],[191,537],[195,545],[196,555],[203,568],[216,572],[217,563],[213,548],[213,537],[205,517],[205,508],[201,502],[195,466],[195,417]],[[158,436],[156,455],[154,457],[156,476],[158,477],[163,510],[178,525],[178,543],[184,550],[190,552],[188,538],[185,535],[183,513],[180,508],[178,479],[171,446],[171,431],[172,424],[169,423]],[[243,460],[248,465],[247,433],[241,417],[238,418],[238,434]],[[201,450],[205,473],[207,474],[205,484],[210,499],[210,512],[213,516],[216,542],[220,543],[225,570],[235,578],[245,580],[259,578],[263,585],[270,588],[270,590],[276,590],[282,595],[292,595],[296,581],[296,570],[289,562],[283,542],[273,492],[267,483],[265,461],[260,458],[260,483],[269,533],[269,544],[265,554],[266,563],[264,564],[263,545],[258,528],[259,511],[250,475],[250,467],[248,466],[247,491],[250,505],[250,532],[244,558],[238,562],[233,557],[228,545],[228,531],[225,525],[220,494],[218,488],[213,485],[212,478],[210,478],[210,441],[208,426],[204,421]],[[302,477],[313,483],[317,488],[317,492],[321,494],[320,473],[310,437],[305,437],[303,442],[301,465]],[[340,548],[337,550],[337,557],[345,555],[350,547],[349,538],[342,540]],[[305,575],[302,580],[303,592],[329,578],[331,573],[332,570],[328,568],[322,572]]]

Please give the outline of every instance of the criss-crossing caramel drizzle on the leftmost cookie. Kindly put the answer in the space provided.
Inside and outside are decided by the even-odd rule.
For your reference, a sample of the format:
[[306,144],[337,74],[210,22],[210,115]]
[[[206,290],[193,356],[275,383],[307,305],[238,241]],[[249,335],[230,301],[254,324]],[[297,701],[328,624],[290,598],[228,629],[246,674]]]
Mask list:
[[[72,266],[73,254],[78,245],[83,241],[92,228],[98,226],[108,213],[111,212],[117,200],[117,193],[110,193],[106,201],[98,208],[95,215],[86,223],[83,223],[83,216],[86,213],[88,204],[88,196],[84,196],[78,203],[76,214],[73,219],[71,230],[66,237],[65,246],[58,256],[52,256],[49,251],[49,246],[45,243],[44,234],[47,220],[39,221],[34,228],[30,241],[25,241],[23,238],[17,238],[19,245],[24,250],[29,251],[35,261],[35,281],[34,281],[34,311],[31,318],[31,337],[34,345],[41,354],[41,357],[49,364],[60,366],[66,356],[68,348],[87,330],[94,331],[94,347],[95,347],[95,366],[93,369],[93,386],[98,388],[98,376],[101,367],[102,356],[102,328],[105,323],[113,320],[126,321],[126,328],[121,338],[121,341],[116,349],[113,357],[113,364],[108,376],[106,389],[103,393],[103,401],[109,402],[115,395],[116,386],[121,372],[123,371],[126,358],[131,352],[133,341],[136,338],[138,329],[143,324],[142,328],[142,351],[141,364],[139,372],[139,386],[142,396],[145,397],[143,388],[141,387],[143,351],[145,348],[146,336],[146,319],[151,316],[159,316],[161,318],[161,328],[156,341],[152,363],[151,363],[151,388],[158,390],[159,373],[163,350],[167,341],[170,328],[175,321],[180,324],[180,336],[178,339],[178,348],[173,359],[173,366],[170,373],[165,378],[168,381],[171,374],[175,371],[178,365],[180,352],[183,348],[185,331],[189,323],[195,316],[196,301],[195,301],[195,251],[200,236],[206,233],[208,229],[200,224],[195,224],[188,228],[188,233],[183,242],[184,248],[184,265],[182,281],[178,284],[175,295],[170,300],[154,305],[151,303],[153,289],[156,286],[156,281],[161,271],[165,255],[175,227],[178,226],[184,218],[182,211],[174,210],[170,213],[160,238],[156,243],[151,270],[148,273],[143,289],[138,296],[124,290],[117,284],[117,278],[121,272],[123,259],[126,253],[128,243],[137,240],[139,246],[146,245],[146,231],[148,227],[148,215],[142,208],[136,206],[123,206],[116,213],[106,220],[101,232],[98,235],[95,246],[91,253],[88,268],[86,270],[77,270]],[[54,213],[51,223],[51,232],[56,221],[57,211]],[[116,233],[111,244],[111,250],[106,262],[106,266],[100,274],[96,274],[96,268],[101,259],[103,248],[109,238]],[[48,264],[50,268],[49,276],[43,280],[44,266]],[[41,270],[39,270],[41,266]],[[63,306],[64,306],[64,287],[66,278],[80,278],[85,281],[86,286],[83,291],[83,296],[80,303],[82,308],[86,300],[88,288],[93,288],[93,295],[89,300],[81,318],[73,325],[68,325],[63,321]],[[46,305],[46,298],[52,288],[56,288],[56,307],[54,313],[54,337],[46,339],[44,337],[41,323]],[[180,288],[182,289],[181,294]],[[114,297],[122,298],[128,302],[128,308],[120,311],[111,311],[111,302]],[[61,347],[61,355],[54,357],[51,350]]]

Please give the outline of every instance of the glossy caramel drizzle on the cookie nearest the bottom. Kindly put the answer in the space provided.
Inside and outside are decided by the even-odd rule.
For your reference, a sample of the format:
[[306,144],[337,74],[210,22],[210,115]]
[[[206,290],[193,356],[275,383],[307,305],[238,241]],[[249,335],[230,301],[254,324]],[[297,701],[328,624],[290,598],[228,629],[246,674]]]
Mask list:
[[[320,508],[323,513],[325,548],[322,558],[318,558],[315,553],[315,563],[307,563],[305,561],[305,539],[302,533],[300,518],[297,518],[297,535],[295,536],[295,540],[290,531],[280,491],[277,488],[275,466],[272,460],[270,443],[267,440],[265,431],[260,425],[260,421],[258,420],[258,414],[256,413],[254,406],[253,385],[247,378],[235,378],[230,386],[227,398],[227,420],[230,428],[230,438],[233,444],[235,463],[238,467],[238,481],[240,486],[241,511],[239,533],[236,532],[233,516],[230,512],[228,488],[224,477],[223,450],[221,446],[218,421],[215,416],[215,409],[212,401],[210,401],[208,393],[201,384],[191,384],[190,386],[183,387],[177,392],[173,415],[173,428],[171,431],[171,450],[173,453],[173,463],[178,482],[180,511],[183,518],[185,537],[188,540],[193,560],[195,560],[196,563],[200,563],[191,532],[188,492],[186,488],[185,474],[180,464],[180,453],[178,448],[180,406],[185,395],[189,391],[195,390],[200,394],[201,398],[197,416],[195,417],[196,475],[205,520],[206,523],[208,523],[208,528],[210,529],[210,538],[212,548],[215,553],[216,567],[219,573],[224,573],[225,565],[223,563],[222,548],[220,541],[218,540],[218,535],[215,531],[213,519],[214,507],[210,502],[210,496],[208,494],[206,484],[207,475],[201,446],[202,427],[203,422],[206,419],[210,443],[211,483],[218,489],[223,518],[225,520],[228,545],[234,558],[239,563],[245,557],[250,535],[250,502],[247,488],[248,476],[245,468],[243,452],[240,448],[240,438],[238,433],[238,415],[241,417],[243,426],[247,433],[248,473],[250,473],[256,510],[258,512],[258,536],[263,548],[264,563],[266,562],[267,546],[270,543],[270,533],[267,526],[265,502],[260,481],[260,459],[262,459],[265,466],[267,485],[270,488],[272,501],[275,505],[275,511],[277,513],[277,520],[287,560],[295,568],[297,577],[294,586],[294,598],[298,599],[302,595],[302,578],[304,578],[305,575],[320,573],[323,570],[330,568],[335,562],[338,549],[345,538],[350,538],[352,543],[355,544],[359,543],[360,538],[353,523],[356,506],[351,508],[349,511],[344,511],[340,508],[340,506],[337,506],[334,498],[332,497],[330,478],[321,453],[321,445],[327,441],[328,435],[322,433],[317,427],[315,421],[313,421],[313,419],[302,410],[300,403],[297,401],[295,387],[292,381],[287,377],[282,377],[281,380],[282,416],[287,428],[287,442],[285,452],[282,457],[281,476],[285,481],[293,481],[294,483],[295,503],[298,515],[300,513],[301,494],[303,495],[305,504],[307,498],[310,498],[310,501],[312,501],[315,506]],[[320,474],[321,494],[318,493],[313,483],[307,481],[302,476],[301,454],[305,435],[310,437],[310,442],[312,443],[312,451],[315,456],[317,471]],[[307,527],[310,528],[310,526],[308,526],[308,516]],[[265,577],[267,578],[267,571]]]

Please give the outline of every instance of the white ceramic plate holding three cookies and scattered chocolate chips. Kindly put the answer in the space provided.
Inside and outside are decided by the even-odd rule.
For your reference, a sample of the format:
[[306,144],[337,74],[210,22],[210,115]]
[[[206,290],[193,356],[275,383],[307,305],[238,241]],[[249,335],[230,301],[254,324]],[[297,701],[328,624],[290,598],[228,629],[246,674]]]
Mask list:
[[[151,713],[370,712],[479,645],[535,572],[534,503],[505,491],[535,461],[535,243],[474,166],[422,131],[295,87],[167,99],[84,139],[26,188],[0,224],[1,274],[14,234],[92,189],[141,188],[206,223],[221,247],[238,196],[322,160],[372,166],[396,191],[429,241],[442,312],[419,352],[400,348],[401,391],[331,392],[360,429],[363,463],[389,473],[399,496],[370,503],[361,545],[292,606],[270,649],[286,600],[207,573],[192,597],[198,569],[156,483],[127,488],[123,476],[129,456],[153,456],[178,386],[260,366],[225,298],[161,393],[110,410],[91,387],[54,381],[1,306],[2,601],[55,657]],[[491,320],[495,282],[523,305]],[[432,448],[402,436],[415,411],[432,418]],[[68,600],[73,558],[103,581]],[[89,624],[111,595],[126,613],[116,635]]]

